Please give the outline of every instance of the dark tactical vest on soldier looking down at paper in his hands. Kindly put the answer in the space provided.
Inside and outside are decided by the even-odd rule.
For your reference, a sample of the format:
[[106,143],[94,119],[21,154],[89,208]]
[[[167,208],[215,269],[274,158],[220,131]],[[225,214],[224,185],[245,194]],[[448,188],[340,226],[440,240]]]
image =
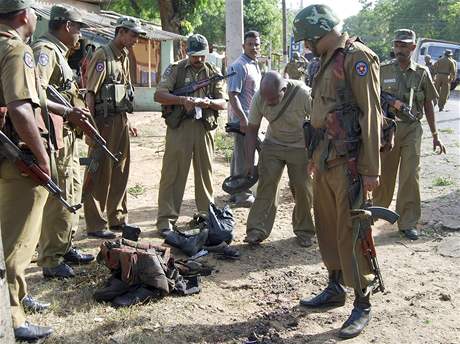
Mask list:
[[[185,86],[185,67],[187,65],[187,59],[180,61],[177,64],[177,78],[176,83],[174,84],[174,89],[179,89]],[[205,75],[206,78],[210,78],[215,74],[218,74],[213,65],[209,62],[204,63],[205,66]],[[204,88],[206,97],[213,98],[212,87],[214,85],[208,85]],[[187,118],[193,118],[194,112],[192,114],[187,114],[185,108],[182,105],[173,105],[172,110],[168,110],[168,107],[163,107],[163,117],[165,118],[166,125],[171,129],[176,129],[180,126],[182,121]],[[213,109],[202,109],[202,118],[201,121],[204,125],[204,128],[208,131],[214,130],[217,128],[217,118],[219,112]]]

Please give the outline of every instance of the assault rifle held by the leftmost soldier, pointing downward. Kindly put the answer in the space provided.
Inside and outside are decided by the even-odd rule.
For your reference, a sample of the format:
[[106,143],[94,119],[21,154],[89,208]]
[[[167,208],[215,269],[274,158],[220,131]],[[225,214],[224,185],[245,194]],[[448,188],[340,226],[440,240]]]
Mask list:
[[61,202],[71,213],[76,214],[81,204],[70,205],[63,197],[63,191],[53,182],[45,172],[38,166],[33,157],[22,152],[2,131],[0,131],[1,154],[10,160],[24,174],[27,174],[39,185],[43,186],[50,194]]

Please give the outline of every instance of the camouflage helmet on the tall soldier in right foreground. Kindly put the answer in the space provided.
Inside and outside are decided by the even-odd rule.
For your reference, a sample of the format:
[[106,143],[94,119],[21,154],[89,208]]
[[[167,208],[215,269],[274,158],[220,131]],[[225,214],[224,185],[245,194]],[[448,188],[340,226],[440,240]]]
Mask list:
[[326,5],[305,7],[294,18],[294,40],[318,40],[340,23],[339,17]]

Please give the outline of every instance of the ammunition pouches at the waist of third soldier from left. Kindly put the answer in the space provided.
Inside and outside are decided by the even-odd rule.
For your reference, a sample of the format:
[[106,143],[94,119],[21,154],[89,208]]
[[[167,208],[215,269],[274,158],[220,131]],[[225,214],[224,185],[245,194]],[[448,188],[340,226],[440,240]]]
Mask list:
[[96,116],[133,112],[134,91],[130,85],[104,84],[96,95]]

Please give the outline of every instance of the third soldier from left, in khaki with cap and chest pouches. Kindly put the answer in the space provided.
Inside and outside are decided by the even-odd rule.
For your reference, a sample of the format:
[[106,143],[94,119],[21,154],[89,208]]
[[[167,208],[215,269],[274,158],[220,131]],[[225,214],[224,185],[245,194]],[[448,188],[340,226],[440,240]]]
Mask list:
[[[137,135],[127,116],[127,112],[133,111],[134,100],[128,49],[137,43],[140,35],[145,35],[145,31],[138,20],[120,17],[115,38],[96,50],[88,66],[86,103],[108,149],[121,154],[117,163],[102,155],[96,174],[91,176],[91,189],[83,189],[87,231],[93,237],[114,238],[110,229],[122,230],[128,222],[129,134]],[[90,148],[88,155],[96,156],[95,148]],[[88,173],[87,169],[85,180]],[[107,220],[103,217],[104,211]]]

